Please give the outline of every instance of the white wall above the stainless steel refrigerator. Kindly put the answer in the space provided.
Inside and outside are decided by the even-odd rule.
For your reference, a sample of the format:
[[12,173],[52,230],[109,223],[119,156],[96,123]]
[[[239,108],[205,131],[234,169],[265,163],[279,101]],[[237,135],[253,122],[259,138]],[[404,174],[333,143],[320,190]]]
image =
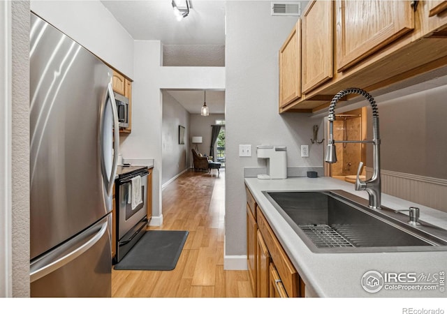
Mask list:
[[101,1],[32,0],[31,10],[133,79],[133,38]]

